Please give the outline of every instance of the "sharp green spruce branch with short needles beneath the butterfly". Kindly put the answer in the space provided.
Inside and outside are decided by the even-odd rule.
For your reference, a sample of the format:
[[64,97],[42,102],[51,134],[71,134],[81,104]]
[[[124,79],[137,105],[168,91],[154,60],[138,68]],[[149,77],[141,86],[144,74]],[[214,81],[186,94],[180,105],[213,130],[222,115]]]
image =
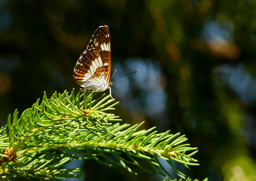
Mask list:
[[165,159],[181,178],[185,175],[174,167],[173,161],[186,167],[198,165],[192,158],[197,148],[183,144],[187,141],[185,135],[170,134],[169,130],[158,134],[155,128],[139,130],[144,122],[132,126],[113,124],[121,119],[106,112],[118,103],[110,95],[95,98],[94,92],[84,90],[75,95],[74,91],[55,92],[50,99],[44,92],[42,102],[38,99],[20,118],[17,110],[12,119],[9,115],[9,135],[6,127],[0,129],[2,180],[79,178],[81,174],[73,173],[79,168],[62,169],[74,159],[94,159],[109,167],[124,167],[136,175],[130,165],[150,173],[139,164],[139,160],[146,160],[157,172],[172,178],[159,158]]

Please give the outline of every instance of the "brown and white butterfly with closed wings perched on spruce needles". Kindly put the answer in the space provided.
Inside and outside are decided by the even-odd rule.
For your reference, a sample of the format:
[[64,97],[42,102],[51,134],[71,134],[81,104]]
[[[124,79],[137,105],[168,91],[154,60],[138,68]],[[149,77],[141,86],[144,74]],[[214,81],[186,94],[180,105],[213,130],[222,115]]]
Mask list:
[[109,88],[111,95],[110,72],[110,32],[108,26],[100,26],[75,64],[73,78],[83,89],[102,92]]

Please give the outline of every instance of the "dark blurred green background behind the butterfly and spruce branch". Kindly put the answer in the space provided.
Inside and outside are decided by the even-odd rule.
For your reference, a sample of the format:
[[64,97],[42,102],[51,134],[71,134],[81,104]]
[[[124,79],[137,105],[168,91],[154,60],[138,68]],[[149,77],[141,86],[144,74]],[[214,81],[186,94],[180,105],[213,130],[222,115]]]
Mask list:
[[[256,180],[256,0],[0,0],[1,125],[44,91],[78,91],[75,63],[103,25],[114,78],[139,70],[113,82],[115,114],[185,134],[200,164],[176,164],[187,177]],[[164,178],[94,161],[68,167],[83,167],[85,181]]]

